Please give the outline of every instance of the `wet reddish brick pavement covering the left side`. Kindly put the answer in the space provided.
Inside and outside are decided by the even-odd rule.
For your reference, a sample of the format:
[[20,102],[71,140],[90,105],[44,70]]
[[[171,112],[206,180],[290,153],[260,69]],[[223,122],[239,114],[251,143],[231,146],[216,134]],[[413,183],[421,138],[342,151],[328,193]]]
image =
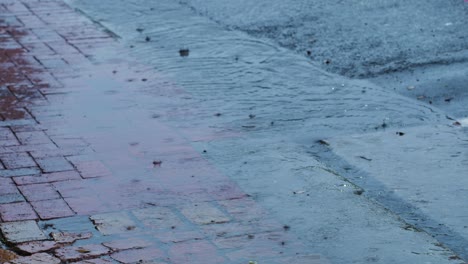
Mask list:
[[[110,80],[122,61],[132,72],[113,83],[184,93],[149,81],[158,74],[122,55],[112,34],[60,0],[0,0],[0,45],[0,230],[10,263],[325,263],[164,121],[151,126],[162,159],[151,165],[138,142],[118,148],[131,138],[112,129],[98,132],[117,146],[62,129],[86,75]],[[119,65],[98,63],[103,47]]]

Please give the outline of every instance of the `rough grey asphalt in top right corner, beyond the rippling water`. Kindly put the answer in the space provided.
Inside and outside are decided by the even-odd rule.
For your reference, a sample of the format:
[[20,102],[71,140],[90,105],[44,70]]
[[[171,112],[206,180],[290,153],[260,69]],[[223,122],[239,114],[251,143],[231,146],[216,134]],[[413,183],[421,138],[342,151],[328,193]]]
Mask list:
[[468,3],[462,0],[181,2],[327,71],[468,115]]

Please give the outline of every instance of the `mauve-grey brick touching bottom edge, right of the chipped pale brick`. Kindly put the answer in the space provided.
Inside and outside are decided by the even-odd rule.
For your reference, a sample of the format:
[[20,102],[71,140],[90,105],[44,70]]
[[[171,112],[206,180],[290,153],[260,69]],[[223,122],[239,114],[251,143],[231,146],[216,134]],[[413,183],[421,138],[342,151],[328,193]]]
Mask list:
[[124,250],[111,255],[111,258],[121,263],[144,263],[144,261],[163,259],[165,257],[164,252],[155,247]]

